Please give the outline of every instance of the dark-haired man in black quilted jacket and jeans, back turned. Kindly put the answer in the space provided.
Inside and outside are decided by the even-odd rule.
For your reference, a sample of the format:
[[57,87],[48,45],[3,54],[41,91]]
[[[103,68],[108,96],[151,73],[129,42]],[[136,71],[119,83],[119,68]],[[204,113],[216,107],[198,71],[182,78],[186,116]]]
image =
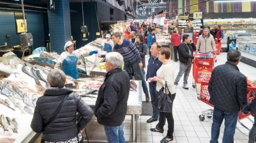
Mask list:
[[214,105],[210,143],[218,143],[220,126],[225,119],[223,143],[233,143],[238,111],[247,105],[247,81],[237,67],[241,53],[227,53],[227,62],[216,66],[209,80],[210,103]]

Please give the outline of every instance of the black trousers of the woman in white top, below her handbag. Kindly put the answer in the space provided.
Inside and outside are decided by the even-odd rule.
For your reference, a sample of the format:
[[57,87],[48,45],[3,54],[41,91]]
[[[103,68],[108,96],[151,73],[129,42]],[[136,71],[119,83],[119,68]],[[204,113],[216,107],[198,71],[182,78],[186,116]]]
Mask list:
[[156,125],[156,128],[163,129],[163,126],[165,125],[165,119],[167,119],[168,122],[167,136],[172,138],[174,132],[174,119],[172,116],[172,112],[159,112],[159,122]]

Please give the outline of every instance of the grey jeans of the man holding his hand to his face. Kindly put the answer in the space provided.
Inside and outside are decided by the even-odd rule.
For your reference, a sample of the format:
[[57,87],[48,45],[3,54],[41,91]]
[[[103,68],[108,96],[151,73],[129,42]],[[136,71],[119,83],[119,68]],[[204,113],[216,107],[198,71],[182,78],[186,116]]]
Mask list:
[[192,63],[190,62],[187,64],[179,62],[179,73],[175,78],[174,85],[179,84],[179,80],[181,79],[183,73],[184,73],[183,84],[188,84],[188,76],[189,76],[191,67],[192,67]]

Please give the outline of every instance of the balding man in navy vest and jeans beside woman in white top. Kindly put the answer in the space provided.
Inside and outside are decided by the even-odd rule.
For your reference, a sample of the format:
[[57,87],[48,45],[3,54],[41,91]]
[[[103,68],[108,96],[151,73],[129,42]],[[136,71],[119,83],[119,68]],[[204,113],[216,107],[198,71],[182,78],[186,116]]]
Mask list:
[[[156,76],[156,71],[158,71],[158,69],[162,65],[162,62],[158,60],[158,49],[161,47],[161,44],[153,43],[150,48],[151,56],[149,58],[149,64],[147,67],[146,80],[148,80],[150,77]],[[156,91],[156,82],[149,82],[149,93],[153,108],[153,115],[149,120],[147,120],[147,123],[151,123],[158,120],[159,111],[158,108],[154,106],[156,96],[158,95],[158,91]]]

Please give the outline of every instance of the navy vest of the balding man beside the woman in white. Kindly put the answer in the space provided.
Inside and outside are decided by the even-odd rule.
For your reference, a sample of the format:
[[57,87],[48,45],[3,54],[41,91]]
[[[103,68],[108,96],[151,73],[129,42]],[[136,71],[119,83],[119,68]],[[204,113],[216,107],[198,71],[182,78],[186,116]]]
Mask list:
[[[158,57],[150,56],[149,63],[147,66],[146,80],[150,77],[156,76],[156,71],[162,66],[162,62],[158,60]],[[156,87],[156,82],[149,82],[150,86]]]

